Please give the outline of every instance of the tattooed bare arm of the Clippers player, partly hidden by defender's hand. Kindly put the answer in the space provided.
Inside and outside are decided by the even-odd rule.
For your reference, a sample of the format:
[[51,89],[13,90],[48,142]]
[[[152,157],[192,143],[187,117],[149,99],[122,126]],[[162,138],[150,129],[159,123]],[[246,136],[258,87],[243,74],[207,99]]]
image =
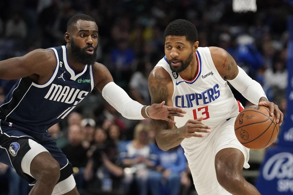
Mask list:
[[[165,101],[168,106],[173,106],[173,82],[172,79],[162,67],[155,67],[149,75],[149,92],[151,94],[151,103],[160,103]],[[171,119],[174,120],[174,113]],[[203,117],[197,120],[188,120],[187,123],[180,128],[174,124],[164,120],[154,120],[154,129],[156,142],[160,149],[166,151],[178,146],[184,138],[203,137],[202,134],[195,132],[209,132],[210,127],[203,125],[200,121]]]

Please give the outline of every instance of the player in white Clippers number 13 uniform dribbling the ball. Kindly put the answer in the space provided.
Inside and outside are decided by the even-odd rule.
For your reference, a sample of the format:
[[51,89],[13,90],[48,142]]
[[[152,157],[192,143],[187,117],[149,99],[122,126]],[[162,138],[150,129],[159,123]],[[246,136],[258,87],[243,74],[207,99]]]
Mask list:
[[151,101],[164,100],[187,113],[175,118],[176,126],[153,120],[158,146],[165,151],[183,146],[199,195],[260,194],[242,176],[249,149],[236,139],[234,122],[243,108],[227,81],[252,103],[270,108],[280,125],[283,113],[224,49],[198,47],[189,21],[174,20],[164,37],[166,56],[149,75]]

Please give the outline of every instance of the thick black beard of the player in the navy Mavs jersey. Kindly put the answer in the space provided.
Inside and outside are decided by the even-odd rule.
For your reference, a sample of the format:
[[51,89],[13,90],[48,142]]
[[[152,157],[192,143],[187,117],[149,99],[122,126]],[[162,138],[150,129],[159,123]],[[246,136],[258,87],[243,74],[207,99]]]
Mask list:
[[[98,46],[94,48],[93,45],[87,45],[84,48],[80,48],[74,43],[74,40],[71,39],[70,47],[71,47],[72,56],[77,62],[82,63],[84,65],[86,64],[92,65],[93,63],[95,63]],[[88,48],[93,48],[93,54],[86,53],[86,49]]]

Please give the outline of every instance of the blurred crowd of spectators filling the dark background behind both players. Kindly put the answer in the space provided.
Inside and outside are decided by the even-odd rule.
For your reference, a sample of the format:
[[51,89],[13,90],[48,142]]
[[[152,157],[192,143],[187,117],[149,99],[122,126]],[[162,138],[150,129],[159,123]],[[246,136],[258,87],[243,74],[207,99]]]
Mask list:
[[[164,29],[182,18],[197,27],[199,46],[226,49],[286,113],[286,19],[292,7],[283,0],[258,0],[257,6],[256,13],[234,13],[231,0],[1,1],[0,60],[66,44],[68,19],[88,14],[99,28],[97,61],[132,99],[149,105],[147,78],[164,57]],[[15,82],[0,80],[0,102]],[[81,194],[196,194],[183,149],[160,150],[151,120],[123,118],[99,92],[49,132],[73,165]],[[28,194],[27,183],[3,164],[0,181],[0,195]]]

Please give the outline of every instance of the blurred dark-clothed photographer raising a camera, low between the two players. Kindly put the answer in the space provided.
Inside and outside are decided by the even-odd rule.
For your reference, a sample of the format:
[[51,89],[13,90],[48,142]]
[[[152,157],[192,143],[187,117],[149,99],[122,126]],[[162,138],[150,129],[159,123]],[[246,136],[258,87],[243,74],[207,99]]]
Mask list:
[[123,169],[115,144],[98,147],[86,165],[86,190],[99,195],[121,195]]

